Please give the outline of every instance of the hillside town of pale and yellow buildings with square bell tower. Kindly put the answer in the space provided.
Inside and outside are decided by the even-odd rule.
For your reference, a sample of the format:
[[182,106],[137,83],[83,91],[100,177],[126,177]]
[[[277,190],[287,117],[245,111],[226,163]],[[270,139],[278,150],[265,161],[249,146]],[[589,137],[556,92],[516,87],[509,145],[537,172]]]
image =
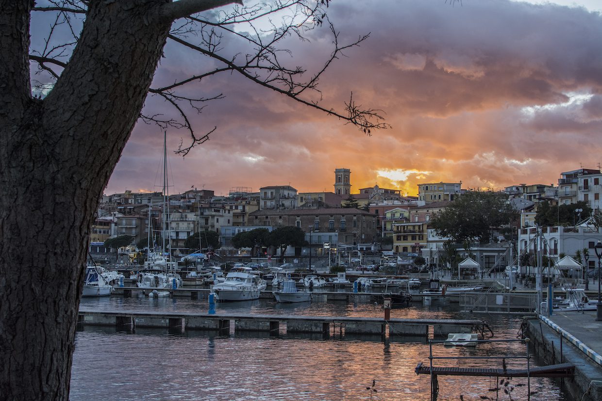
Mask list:
[[[256,228],[272,231],[299,227],[305,233],[307,246],[289,246],[284,256],[290,259],[311,254],[329,260],[332,257],[334,261],[341,260],[341,255],[384,252],[393,256],[421,256],[427,266],[447,263],[444,245],[450,238],[439,236],[430,222],[436,213],[471,191],[462,188],[461,181],[420,183],[418,196],[414,197],[378,185],[353,191],[351,171],[347,168],[337,168],[333,178],[332,192],[297,192],[291,185],[268,185],[257,192],[235,187],[228,196],[217,196],[208,189],[191,188],[182,194],[169,195],[167,210],[163,210],[161,192],[105,195],[90,237],[90,253],[104,255],[107,260],[114,258],[114,249],[104,245],[107,239],[119,236],[131,236],[131,245],[143,249],[149,238],[152,241],[160,235],[163,221],[169,233],[166,248],[173,257],[198,249],[215,251],[222,257],[243,258],[240,260],[251,256],[272,257],[276,254],[274,248],[235,248],[232,238]],[[600,210],[601,179],[599,169],[580,168],[560,173],[556,185],[521,183],[495,192],[507,200],[520,218],[509,221],[506,227],[497,227],[488,243],[471,243],[468,251],[480,262],[483,271],[503,269],[511,264],[513,254],[529,253],[538,246],[533,239],[538,234],[535,218],[541,205],[585,204],[593,211]],[[580,259],[582,249],[592,249],[597,242],[598,228],[589,213],[575,207],[573,221],[569,223],[542,224],[539,232],[545,254],[552,261],[563,255]],[[186,243],[194,233],[209,231],[219,236],[216,249],[208,243],[195,246]],[[510,243],[514,243],[513,249]],[[594,258],[588,264],[595,268]]]

